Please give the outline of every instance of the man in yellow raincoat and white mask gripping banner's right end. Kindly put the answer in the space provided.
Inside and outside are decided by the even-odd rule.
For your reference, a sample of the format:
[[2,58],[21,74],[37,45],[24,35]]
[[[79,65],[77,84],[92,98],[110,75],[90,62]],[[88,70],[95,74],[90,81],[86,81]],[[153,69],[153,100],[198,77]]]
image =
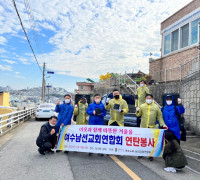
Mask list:
[[[167,129],[162,118],[162,112],[158,105],[153,101],[153,95],[146,95],[146,103],[136,108],[136,116],[141,117],[140,128],[156,128],[156,119],[158,119],[160,127]],[[142,156],[138,156],[138,159]],[[149,157],[150,161],[153,161],[153,157]]]

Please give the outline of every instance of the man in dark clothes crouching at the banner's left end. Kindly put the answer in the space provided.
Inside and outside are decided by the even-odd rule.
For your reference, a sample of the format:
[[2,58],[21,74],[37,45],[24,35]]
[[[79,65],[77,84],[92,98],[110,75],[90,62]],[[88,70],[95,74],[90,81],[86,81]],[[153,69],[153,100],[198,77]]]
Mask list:
[[41,155],[45,155],[45,152],[54,153],[51,149],[57,144],[56,122],[57,117],[51,116],[49,121],[43,124],[40,129],[36,144],[39,147],[38,151]]

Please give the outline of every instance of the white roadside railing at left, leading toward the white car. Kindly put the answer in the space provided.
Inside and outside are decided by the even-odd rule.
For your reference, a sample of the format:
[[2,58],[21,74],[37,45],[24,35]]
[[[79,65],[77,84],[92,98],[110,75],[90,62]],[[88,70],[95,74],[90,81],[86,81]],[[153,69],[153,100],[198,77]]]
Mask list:
[[11,130],[16,125],[30,118],[35,114],[35,110],[36,108],[34,107],[27,110],[0,115],[0,134]]

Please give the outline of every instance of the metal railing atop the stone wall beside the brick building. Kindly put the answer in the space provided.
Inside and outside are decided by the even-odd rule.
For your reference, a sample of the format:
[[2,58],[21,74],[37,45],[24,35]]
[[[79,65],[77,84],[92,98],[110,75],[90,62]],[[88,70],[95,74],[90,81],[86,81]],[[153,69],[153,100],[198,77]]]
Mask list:
[[175,68],[168,68],[153,73],[155,82],[182,81],[200,71],[200,56]]

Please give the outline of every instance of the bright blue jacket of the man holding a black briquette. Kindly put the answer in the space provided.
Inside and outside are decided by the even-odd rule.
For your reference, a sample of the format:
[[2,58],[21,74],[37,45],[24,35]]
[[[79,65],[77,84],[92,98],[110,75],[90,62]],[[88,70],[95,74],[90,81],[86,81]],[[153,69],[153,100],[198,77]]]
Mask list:
[[[93,114],[93,111],[97,108],[100,108],[101,110],[100,116]],[[100,104],[96,104],[96,102],[94,101],[92,104],[90,104],[87,109],[87,114],[90,115],[89,125],[104,125],[104,116],[106,115],[106,109],[102,102],[100,102]]]

